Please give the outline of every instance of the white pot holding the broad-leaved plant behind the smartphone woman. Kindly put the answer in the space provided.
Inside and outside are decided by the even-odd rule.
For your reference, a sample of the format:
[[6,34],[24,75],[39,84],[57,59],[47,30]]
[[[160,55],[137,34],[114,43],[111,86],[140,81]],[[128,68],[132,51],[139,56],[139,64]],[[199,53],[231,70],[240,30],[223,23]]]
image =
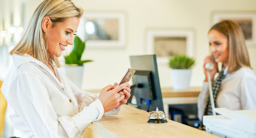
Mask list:
[[84,66],[76,64],[66,65],[59,68],[78,88],[82,87]]

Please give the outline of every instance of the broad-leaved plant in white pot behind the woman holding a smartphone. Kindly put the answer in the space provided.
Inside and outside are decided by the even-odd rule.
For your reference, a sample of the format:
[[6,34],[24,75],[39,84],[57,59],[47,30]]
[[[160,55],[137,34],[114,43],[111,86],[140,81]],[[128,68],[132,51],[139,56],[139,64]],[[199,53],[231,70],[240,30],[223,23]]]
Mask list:
[[85,49],[85,42],[79,37],[74,38],[74,48],[72,52],[65,56],[66,65],[61,67],[61,71],[76,84],[79,88],[82,86],[84,63],[91,62],[92,60],[81,60],[83,51]]

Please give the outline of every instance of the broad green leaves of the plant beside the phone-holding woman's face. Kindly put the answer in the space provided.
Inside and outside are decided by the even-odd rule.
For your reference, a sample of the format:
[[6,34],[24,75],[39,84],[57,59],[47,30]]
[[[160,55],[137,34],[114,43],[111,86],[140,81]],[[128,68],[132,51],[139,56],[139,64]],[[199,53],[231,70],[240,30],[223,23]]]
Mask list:
[[83,65],[83,63],[91,62],[92,60],[81,60],[82,53],[85,49],[85,42],[83,42],[79,37],[74,38],[74,48],[72,52],[65,56],[66,64],[78,64]]

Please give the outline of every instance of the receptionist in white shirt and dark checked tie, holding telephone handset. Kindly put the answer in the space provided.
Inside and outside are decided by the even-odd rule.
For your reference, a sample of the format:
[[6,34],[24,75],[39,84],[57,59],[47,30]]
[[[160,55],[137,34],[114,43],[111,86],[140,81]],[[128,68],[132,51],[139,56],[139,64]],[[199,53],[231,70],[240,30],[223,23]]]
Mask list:
[[[205,64],[214,62],[210,71],[215,107],[230,110],[256,109],[256,75],[251,69],[249,54],[241,27],[230,20],[215,24],[208,33],[210,52],[204,60],[205,81],[198,97],[198,117],[212,115]],[[222,71],[214,80],[217,62]]]

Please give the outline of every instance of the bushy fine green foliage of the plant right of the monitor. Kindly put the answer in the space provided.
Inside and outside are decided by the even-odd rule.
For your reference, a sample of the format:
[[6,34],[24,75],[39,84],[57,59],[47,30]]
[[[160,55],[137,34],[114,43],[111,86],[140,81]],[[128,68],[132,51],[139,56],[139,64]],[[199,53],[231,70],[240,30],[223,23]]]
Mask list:
[[189,69],[195,64],[195,60],[186,55],[176,55],[169,59],[169,67],[172,69]]

